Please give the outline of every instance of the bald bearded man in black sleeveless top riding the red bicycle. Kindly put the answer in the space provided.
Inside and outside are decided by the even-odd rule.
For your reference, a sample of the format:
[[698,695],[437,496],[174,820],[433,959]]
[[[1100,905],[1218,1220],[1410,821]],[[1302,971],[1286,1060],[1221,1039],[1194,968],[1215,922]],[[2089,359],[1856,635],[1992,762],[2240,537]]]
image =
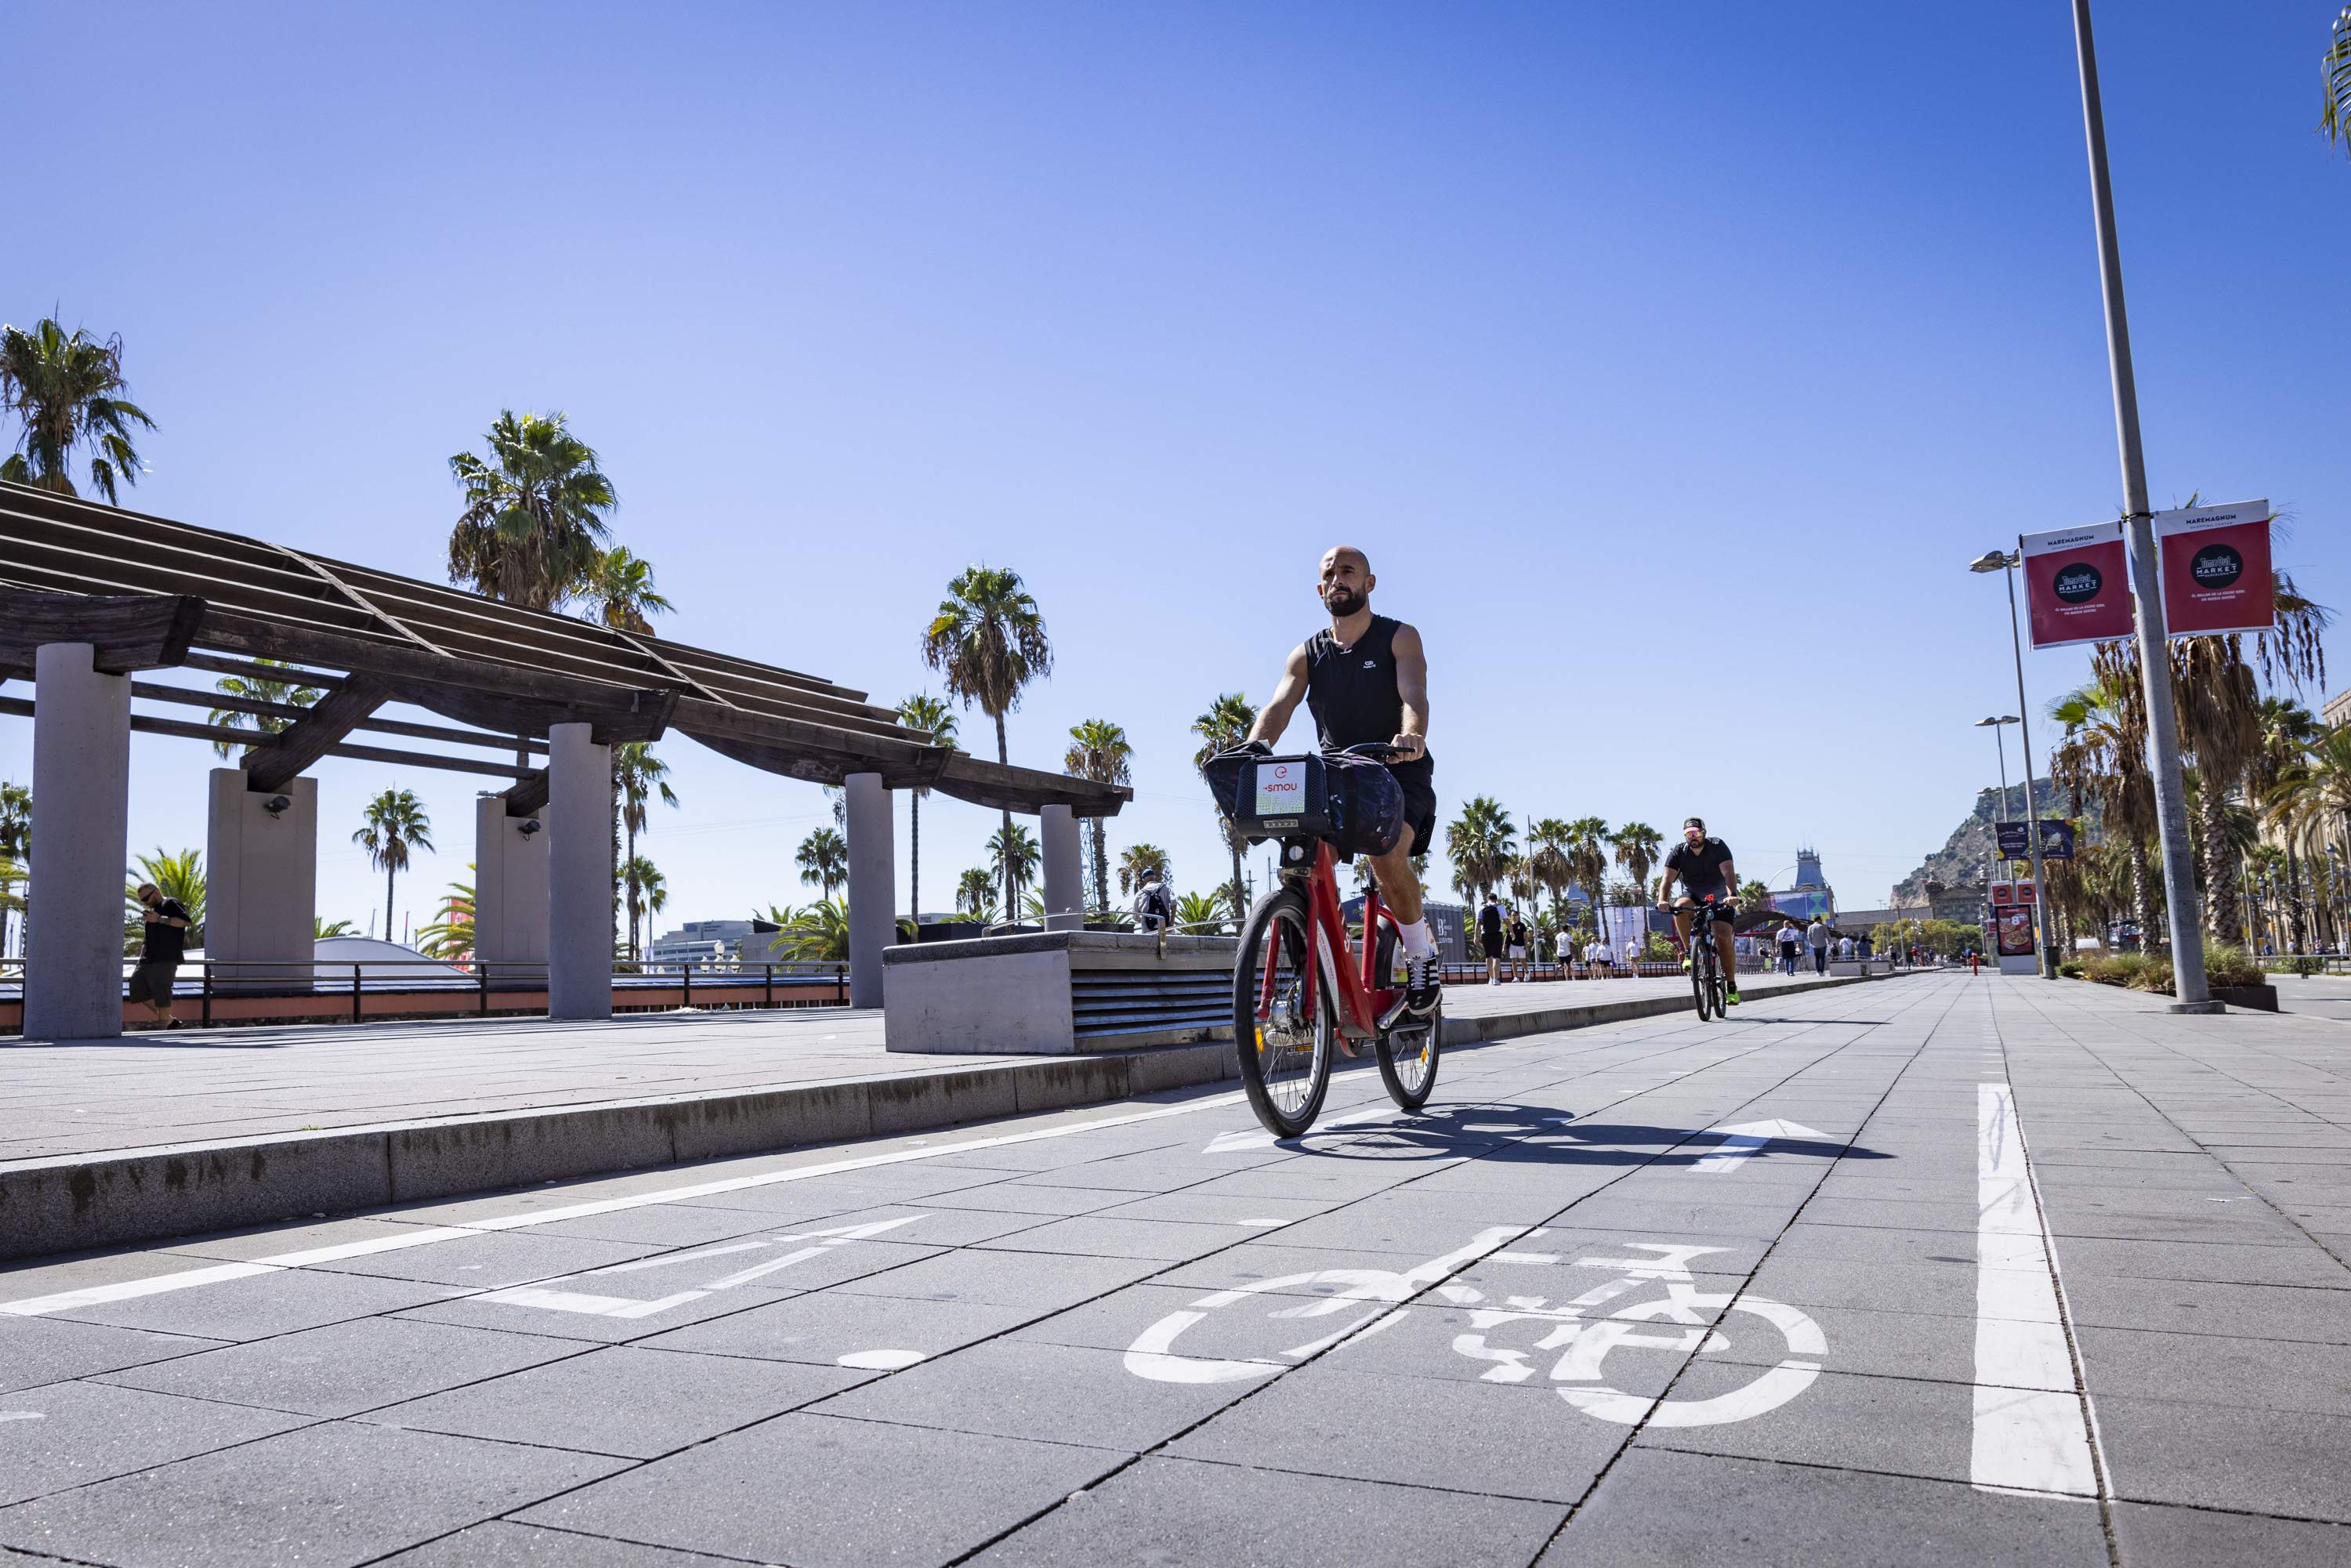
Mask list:
[[1427,1013],[1436,1006],[1439,990],[1436,938],[1420,907],[1413,851],[1427,849],[1436,837],[1436,766],[1427,743],[1429,658],[1420,649],[1420,632],[1371,614],[1371,590],[1378,585],[1371,559],[1354,545],[1338,545],[1321,557],[1314,592],[1331,611],[1331,628],[1291,649],[1274,701],[1258,715],[1248,738],[1274,745],[1298,703],[1305,703],[1324,748],[1387,743],[1401,752],[1387,771],[1404,785],[1404,835],[1371,863],[1371,875],[1404,933],[1406,1006]]

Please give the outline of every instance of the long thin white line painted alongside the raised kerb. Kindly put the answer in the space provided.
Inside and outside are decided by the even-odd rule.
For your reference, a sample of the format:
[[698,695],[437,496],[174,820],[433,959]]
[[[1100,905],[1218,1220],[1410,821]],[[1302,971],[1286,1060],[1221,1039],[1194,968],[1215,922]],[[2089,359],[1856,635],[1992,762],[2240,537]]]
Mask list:
[[1034,1133],[999,1133],[994,1138],[964,1138],[962,1143],[938,1143],[929,1147],[893,1150],[889,1154],[858,1154],[853,1159],[832,1159],[820,1166],[795,1166],[790,1171],[766,1171],[759,1175],[729,1175],[715,1182],[689,1182],[684,1187],[663,1187],[658,1192],[635,1192],[618,1199],[595,1199],[590,1204],[569,1204],[564,1208],[545,1208],[534,1213],[508,1213],[491,1215],[487,1220],[465,1220],[461,1225],[433,1225],[416,1232],[402,1232],[395,1237],[371,1237],[367,1241],[341,1241],[336,1246],[310,1246],[296,1253],[273,1253],[268,1258],[254,1258],[252,1262],[219,1262],[202,1269],[179,1269],[174,1274],[150,1274],[146,1279],[120,1279],[115,1284],[87,1286],[82,1291],[59,1291],[54,1295],[28,1295],[24,1300],[0,1302],[0,1314],[5,1316],[45,1316],[49,1312],[82,1312],[87,1307],[103,1307],[110,1302],[139,1300],[141,1295],[162,1295],[167,1291],[190,1291],[195,1286],[214,1286],[228,1279],[252,1279],[254,1274],[275,1274],[280,1269],[299,1269],[313,1262],[341,1262],[343,1258],[367,1258],[371,1253],[390,1253],[409,1246],[430,1246],[435,1241],[456,1241],[458,1237],[480,1237],[503,1229],[527,1229],[531,1225],[555,1225],[557,1220],[585,1220],[602,1213],[618,1213],[623,1208],[649,1208],[654,1204],[682,1204],[698,1197],[715,1197],[719,1192],[748,1192],[752,1187],[776,1187],[781,1182],[804,1182],[818,1175],[839,1175],[842,1171],[870,1171],[875,1166],[900,1166],[915,1159],[936,1159],[940,1154],[969,1154],[973,1150],[1002,1150],[1016,1143],[1044,1143],[1046,1138],[1074,1138],[1079,1133],[1093,1133],[1105,1126],[1133,1126],[1136,1121],[1159,1121],[1164,1117],[1187,1117],[1201,1110],[1218,1110],[1225,1105],[1239,1105],[1246,1095],[1223,1093],[1208,1095],[1204,1100],[1187,1100],[1183,1105],[1161,1105],[1157,1110],[1126,1112],[1121,1117],[1096,1117],[1093,1121],[1072,1121],[1067,1126],[1049,1126]]

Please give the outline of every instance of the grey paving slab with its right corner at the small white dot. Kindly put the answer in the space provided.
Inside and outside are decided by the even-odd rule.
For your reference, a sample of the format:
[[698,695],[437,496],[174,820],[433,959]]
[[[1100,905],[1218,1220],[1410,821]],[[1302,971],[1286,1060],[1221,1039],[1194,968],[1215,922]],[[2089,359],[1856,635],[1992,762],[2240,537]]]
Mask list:
[[388,1406],[367,1420],[651,1460],[870,1378],[839,1366],[611,1345]]

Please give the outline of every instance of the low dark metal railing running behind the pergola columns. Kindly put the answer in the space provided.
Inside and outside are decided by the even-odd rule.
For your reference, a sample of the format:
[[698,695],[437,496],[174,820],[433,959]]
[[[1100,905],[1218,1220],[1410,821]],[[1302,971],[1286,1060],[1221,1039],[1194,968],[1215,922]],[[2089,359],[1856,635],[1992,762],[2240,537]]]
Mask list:
[[[129,971],[136,961],[125,961],[125,992],[129,1004]],[[190,985],[186,971],[195,969]],[[423,969],[430,973],[383,973]],[[458,971],[458,973],[449,973]],[[783,971],[783,973],[778,973]],[[28,959],[0,959],[0,1034],[24,1032],[24,985]],[[696,971],[686,966],[677,973],[614,973],[611,1004],[623,1011],[668,1011],[668,997],[658,1001],[647,992],[677,992],[677,1009],[809,1009],[849,1006],[849,966],[823,964],[811,971],[806,961],[745,964],[731,971]],[[701,992],[701,1001],[696,1001]],[[797,992],[797,994],[795,994]],[[320,999],[346,999],[348,1011],[331,1016],[315,1006]],[[400,1006],[418,999],[468,997],[470,1009],[458,1006]],[[501,999],[505,1004],[501,1006]],[[515,1006],[517,999],[529,999]],[[181,1001],[197,1004],[197,1027],[221,1023],[364,1023],[369,1018],[447,1018],[470,1011],[477,1018],[534,1016],[548,1011],[548,964],[545,959],[188,959],[174,973],[174,1009]],[[270,1001],[306,1001],[313,1006],[268,1011]],[[259,1006],[256,1006],[259,1004]],[[9,1016],[14,1013],[14,1016]],[[235,1013],[221,1018],[221,1013]]]

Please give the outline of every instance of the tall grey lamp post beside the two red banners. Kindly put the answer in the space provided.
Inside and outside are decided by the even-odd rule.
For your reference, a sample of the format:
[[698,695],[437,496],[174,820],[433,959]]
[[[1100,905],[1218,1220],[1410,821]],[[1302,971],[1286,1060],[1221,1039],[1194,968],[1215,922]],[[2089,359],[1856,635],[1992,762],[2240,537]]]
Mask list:
[[[2156,785],[2156,837],[2163,844],[2163,903],[2172,926],[2175,1013],[2219,1013],[2205,985],[2198,931],[2196,860],[2189,856],[2189,795],[2179,778],[2179,729],[2172,722],[2172,658],[2163,635],[2163,576],[2156,567],[2156,520],[2146,510],[2146,456],[2139,451],[2139,383],[2130,369],[2130,317],[2123,310],[2123,249],[2114,237],[2114,181],[2106,176],[2106,110],[2097,96],[2097,47],[2090,0],[2074,0],[2074,56],[2081,63],[2081,125],[2090,141],[2090,216],[2097,226],[2097,282],[2106,301],[2106,364],[2114,374],[2114,440],[2123,454],[2123,527],[2130,534],[2130,592],[2137,599],[2139,682],[2146,693],[2146,750]],[[2027,769],[2029,773],[2031,769]],[[2034,839],[2038,846],[2038,835]],[[2139,940],[2144,943],[2142,933]]]

